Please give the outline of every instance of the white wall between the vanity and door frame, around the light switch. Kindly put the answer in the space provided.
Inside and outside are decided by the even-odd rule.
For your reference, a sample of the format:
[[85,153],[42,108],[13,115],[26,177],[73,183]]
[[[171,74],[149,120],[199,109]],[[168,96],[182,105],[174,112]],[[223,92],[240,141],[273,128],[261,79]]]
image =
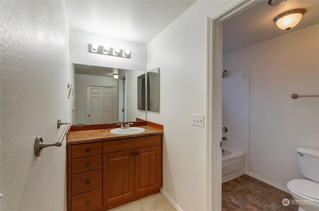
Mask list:
[[196,1],[148,43],[148,70],[160,68],[160,112],[149,113],[164,125],[163,191],[183,211],[206,210],[206,128],[191,114],[206,114],[207,16],[225,3]]

